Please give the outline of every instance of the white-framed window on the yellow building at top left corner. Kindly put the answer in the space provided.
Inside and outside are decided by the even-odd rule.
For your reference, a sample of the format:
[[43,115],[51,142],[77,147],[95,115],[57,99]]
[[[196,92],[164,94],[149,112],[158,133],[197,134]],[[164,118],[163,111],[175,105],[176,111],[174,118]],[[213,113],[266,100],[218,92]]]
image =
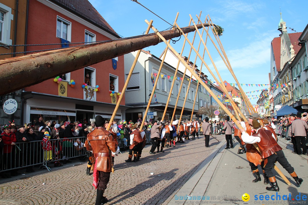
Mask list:
[[12,9],[0,3],[0,43],[5,45],[12,45],[11,36],[11,22],[14,19]]

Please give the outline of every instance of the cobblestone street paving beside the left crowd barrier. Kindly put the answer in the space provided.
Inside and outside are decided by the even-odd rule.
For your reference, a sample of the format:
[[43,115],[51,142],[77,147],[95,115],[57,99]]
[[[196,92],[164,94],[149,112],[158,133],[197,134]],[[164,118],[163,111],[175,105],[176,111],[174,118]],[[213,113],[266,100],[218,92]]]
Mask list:
[[[216,137],[225,138],[224,135]],[[155,155],[150,155],[151,146],[146,146],[136,163],[124,162],[128,152],[119,154],[105,191],[110,200],[106,204],[167,204],[217,144],[211,137],[210,147],[205,148],[204,138],[200,136]],[[2,180],[0,204],[95,204],[93,176],[86,175],[86,164],[73,160],[65,167],[52,168],[51,172],[26,173]]]

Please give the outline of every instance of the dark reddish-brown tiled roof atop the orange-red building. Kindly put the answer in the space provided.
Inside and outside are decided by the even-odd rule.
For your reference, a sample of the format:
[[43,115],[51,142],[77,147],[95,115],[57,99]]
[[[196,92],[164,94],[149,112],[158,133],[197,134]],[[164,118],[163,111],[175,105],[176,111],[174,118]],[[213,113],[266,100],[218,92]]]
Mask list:
[[119,34],[111,28],[107,21],[98,13],[88,0],[53,0],[61,6],[71,10],[75,14],[83,17],[84,19],[96,24],[108,33],[119,37]]

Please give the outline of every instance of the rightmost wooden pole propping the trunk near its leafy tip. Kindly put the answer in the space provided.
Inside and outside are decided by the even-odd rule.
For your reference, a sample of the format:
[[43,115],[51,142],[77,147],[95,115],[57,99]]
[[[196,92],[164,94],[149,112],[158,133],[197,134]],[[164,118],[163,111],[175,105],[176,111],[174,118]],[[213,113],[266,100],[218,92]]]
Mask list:
[[[212,22],[210,16],[209,16],[209,20],[210,20],[210,22]],[[213,22],[212,22],[212,25],[213,25]],[[228,65],[229,65],[229,66],[227,66],[227,68],[229,69],[231,75],[233,76],[234,80],[235,80],[236,83],[237,83],[238,88],[240,89],[240,91],[241,91],[241,93],[242,93],[242,96],[243,96],[243,99],[244,99],[244,101],[245,101],[245,103],[246,103],[248,112],[249,112],[249,108],[252,109],[252,112],[255,112],[255,110],[253,109],[252,104],[250,103],[248,97],[246,96],[244,90],[242,89],[240,83],[239,83],[238,80],[237,80],[237,77],[235,76],[235,74],[234,74],[234,72],[233,72],[233,69],[232,69],[232,67],[231,67],[230,61],[229,61],[229,59],[228,59],[228,57],[227,57],[227,55],[226,55],[226,53],[225,53],[225,49],[224,49],[224,47],[222,46],[222,43],[221,43],[221,41],[220,41],[220,39],[219,39],[219,37],[218,37],[218,34],[217,34],[217,31],[216,31],[215,27],[213,26],[213,29],[214,29],[214,30],[212,29],[212,26],[210,26],[210,28],[211,28],[211,30],[212,30],[213,33],[214,33],[214,31],[215,31],[214,36],[215,36],[215,38],[216,38],[218,44],[220,45],[221,51],[222,51],[222,53],[224,54],[224,57],[225,57],[226,61],[228,62]],[[251,114],[251,112],[249,112],[249,114]]]

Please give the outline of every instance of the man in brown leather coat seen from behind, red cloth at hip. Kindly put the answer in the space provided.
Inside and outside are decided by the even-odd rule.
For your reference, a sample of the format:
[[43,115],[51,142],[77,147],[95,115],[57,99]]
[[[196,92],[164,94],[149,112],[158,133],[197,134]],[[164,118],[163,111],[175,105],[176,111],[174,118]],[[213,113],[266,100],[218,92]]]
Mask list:
[[105,119],[98,115],[95,117],[96,128],[87,135],[85,142],[87,150],[92,151],[95,157],[93,172],[93,186],[97,188],[95,205],[106,203],[108,199],[103,197],[104,191],[110,178],[111,154],[119,153],[120,149],[116,145],[112,133],[105,130]]

